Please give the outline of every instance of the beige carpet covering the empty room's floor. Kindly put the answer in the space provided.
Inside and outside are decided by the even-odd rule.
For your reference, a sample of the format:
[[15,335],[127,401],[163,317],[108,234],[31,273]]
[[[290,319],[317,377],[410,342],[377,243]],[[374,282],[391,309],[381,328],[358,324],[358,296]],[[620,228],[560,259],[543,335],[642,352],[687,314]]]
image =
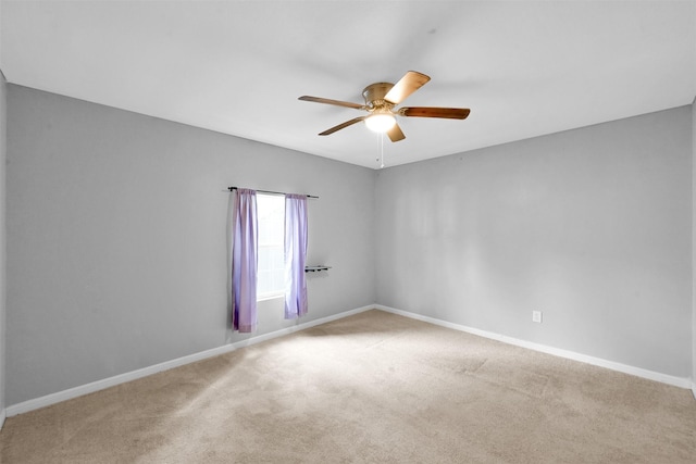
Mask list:
[[2,463],[679,463],[691,391],[369,311],[8,418]]

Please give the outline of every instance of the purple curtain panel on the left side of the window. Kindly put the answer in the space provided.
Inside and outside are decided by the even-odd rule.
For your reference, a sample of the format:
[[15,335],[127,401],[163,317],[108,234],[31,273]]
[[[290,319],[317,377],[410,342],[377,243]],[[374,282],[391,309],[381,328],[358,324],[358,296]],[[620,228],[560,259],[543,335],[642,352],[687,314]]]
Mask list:
[[232,326],[257,329],[257,192],[235,190],[232,227]]

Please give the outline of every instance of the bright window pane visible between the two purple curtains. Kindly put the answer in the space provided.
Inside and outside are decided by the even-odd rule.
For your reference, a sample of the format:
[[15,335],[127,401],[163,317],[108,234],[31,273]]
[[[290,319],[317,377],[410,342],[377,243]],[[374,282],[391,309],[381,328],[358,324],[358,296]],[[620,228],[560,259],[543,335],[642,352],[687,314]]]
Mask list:
[[285,197],[257,195],[259,273],[257,299],[285,294]]

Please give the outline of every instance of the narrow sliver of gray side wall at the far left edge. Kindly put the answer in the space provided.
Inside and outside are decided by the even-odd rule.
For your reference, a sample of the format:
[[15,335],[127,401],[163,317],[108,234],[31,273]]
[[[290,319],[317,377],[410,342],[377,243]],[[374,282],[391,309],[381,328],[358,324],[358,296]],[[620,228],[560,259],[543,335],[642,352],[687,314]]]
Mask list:
[[[0,412],[5,405],[5,161],[7,161],[7,81],[0,71]],[[0,424],[1,426],[2,424]]]

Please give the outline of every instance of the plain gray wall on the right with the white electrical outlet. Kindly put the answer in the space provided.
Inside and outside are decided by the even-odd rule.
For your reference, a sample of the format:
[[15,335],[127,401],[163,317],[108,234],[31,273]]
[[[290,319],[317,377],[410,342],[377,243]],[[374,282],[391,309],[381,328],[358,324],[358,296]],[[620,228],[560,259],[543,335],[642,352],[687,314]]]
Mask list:
[[688,378],[691,112],[380,172],[377,302]]

